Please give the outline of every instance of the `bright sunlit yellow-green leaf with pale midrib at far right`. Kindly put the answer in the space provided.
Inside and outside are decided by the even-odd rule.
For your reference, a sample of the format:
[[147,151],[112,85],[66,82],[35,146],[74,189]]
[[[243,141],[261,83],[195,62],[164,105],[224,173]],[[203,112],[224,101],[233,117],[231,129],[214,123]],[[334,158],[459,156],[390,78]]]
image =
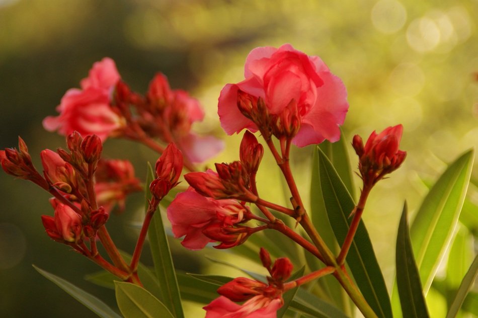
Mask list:
[[451,242],[468,187],[473,151],[463,153],[425,197],[410,228],[415,260],[426,294]]

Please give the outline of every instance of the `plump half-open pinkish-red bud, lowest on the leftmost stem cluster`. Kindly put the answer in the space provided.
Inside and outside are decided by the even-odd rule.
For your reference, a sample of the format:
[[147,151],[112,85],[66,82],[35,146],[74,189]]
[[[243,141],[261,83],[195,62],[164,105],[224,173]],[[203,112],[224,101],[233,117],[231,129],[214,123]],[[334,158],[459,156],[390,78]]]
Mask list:
[[83,238],[82,217],[69,206],[55,203],[55,216],[42,215],[43,226],[52,240],[78,243]]

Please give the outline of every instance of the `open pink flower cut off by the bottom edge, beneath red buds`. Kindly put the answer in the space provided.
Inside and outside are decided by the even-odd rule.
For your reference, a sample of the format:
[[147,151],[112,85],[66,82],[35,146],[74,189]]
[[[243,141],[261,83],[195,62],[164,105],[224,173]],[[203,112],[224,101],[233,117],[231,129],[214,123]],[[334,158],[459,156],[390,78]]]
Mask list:
[[240,305],[220,296],[203,309],[206,310],[206,318],[276,318],[277,310],[283,302],[282,298],[270,298],[261,294]]

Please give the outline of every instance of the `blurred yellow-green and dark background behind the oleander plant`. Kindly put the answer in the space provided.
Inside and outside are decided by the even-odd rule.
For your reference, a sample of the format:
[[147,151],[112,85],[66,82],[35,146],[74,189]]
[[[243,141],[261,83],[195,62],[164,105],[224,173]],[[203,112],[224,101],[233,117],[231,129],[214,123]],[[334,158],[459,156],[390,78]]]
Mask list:
[[[291,43],[321,56],[344,81],[350,102],[343,127],[348,140],[355,133],[366,138],[374,129],[404,125],[401,148],[408,151],[407,160],[377,186],[364,214],[390,287],[403,201],[416,210],[427,192],[425,184],[436,179],[445,163],[478,145],[476,17],[476,0],[0,0],[0,147],[17,146],[21,135],[41,167],[42,149],[64,146],[63,137],[43,130],[42,119],[55,114],[65,91],[79,86],[93,62],[109,56],[137,92],[146,91],[157,71],[168,76],[173,88],[189,90],[206,109],[204,123],[195,129],[226,140],[225,151],[209,166],[237,160],[241,136],[226,137],[220,129],[219,92],[224,84],[243,79],[251,49]],[[304,193],[311,152],[311,147],[294,150],[294,171]],[[105,154],[129,158],[140,178],[144,162],[157,158],[123,140],[108,140]],[[279,180],[278,170],[268,167],[261,172],[259,188],[274,200],[277,194],[268,185],[277,184],[271,180]],[[472,179],[477,176],[475,171]],[[97,267],[44,233],[40,215],[53,213],[47,198],[32,184],[0,173],[2,316],[93,315],[31,264],[114,304],[113,292],[83,280]],[[126,251],[134,247],[131,221],[141,201],[141,194],[133,195],[128,210],[109,221],[115,242]],[[476,234],[478,224],[467,225],[464,230]],[[184,270],[216,270],[194,253],[175,251],[176,264]],[[438,314],[446,306],[440,295],[432,301]]]

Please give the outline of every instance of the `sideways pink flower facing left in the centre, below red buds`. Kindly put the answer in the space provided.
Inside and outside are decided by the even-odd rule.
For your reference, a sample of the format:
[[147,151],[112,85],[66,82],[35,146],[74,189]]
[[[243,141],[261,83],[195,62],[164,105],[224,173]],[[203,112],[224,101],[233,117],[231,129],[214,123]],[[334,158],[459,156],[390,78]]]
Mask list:
[[207,229],[215,224],[231,227],[248,220],[249,208],[235,200],[215,200],[206,198],[189,188],[176,196],[168,207],[174,237],[184,237],[181,244],[190,250],[203,249],[215,242],[206,236]]

